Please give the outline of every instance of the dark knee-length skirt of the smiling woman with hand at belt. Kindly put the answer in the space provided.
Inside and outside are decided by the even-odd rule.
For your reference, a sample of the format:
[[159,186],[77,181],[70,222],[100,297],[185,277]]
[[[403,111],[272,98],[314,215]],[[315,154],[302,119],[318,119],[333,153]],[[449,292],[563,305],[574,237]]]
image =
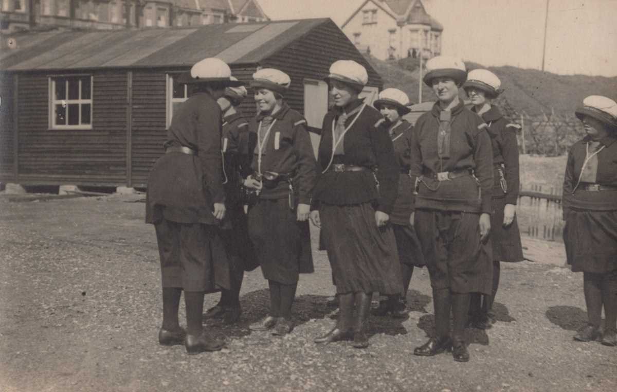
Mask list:
[[284,285],[313,272],[309,221],[298,222],[288,198],[259,199],[249,209],[249,236],[263,277]]

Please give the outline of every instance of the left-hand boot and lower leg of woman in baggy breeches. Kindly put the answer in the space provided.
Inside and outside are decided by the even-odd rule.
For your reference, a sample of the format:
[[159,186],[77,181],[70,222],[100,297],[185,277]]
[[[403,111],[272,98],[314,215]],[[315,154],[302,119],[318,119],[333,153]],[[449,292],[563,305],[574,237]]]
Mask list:
[[435,311],[435,336],[413,350],[413,354],[430,357],[449,350],[450,339],[450,289],[433,289],[433,307]]

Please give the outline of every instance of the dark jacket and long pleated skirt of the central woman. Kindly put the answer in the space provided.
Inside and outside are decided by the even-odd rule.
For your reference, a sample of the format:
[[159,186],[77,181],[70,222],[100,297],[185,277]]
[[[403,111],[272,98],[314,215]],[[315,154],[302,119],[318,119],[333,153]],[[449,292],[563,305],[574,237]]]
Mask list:
[[[363,104],[351,102],[346,112]],[[378,228],[375,211],[392,212],[400,169],[384,120],[373,107],[350,115],[344,153],[333,157],[333,121],[341,109],[325,115],[318,151],[320,176],[313,208],[321,217],[321,236],[337,293],[402,293],[399,256],[392,225]],[[357,118],[356,118],[357,117]],[[366,167],[358,172],[326,170],[329,162]],[[379,187],[377,186],[377,182]]]

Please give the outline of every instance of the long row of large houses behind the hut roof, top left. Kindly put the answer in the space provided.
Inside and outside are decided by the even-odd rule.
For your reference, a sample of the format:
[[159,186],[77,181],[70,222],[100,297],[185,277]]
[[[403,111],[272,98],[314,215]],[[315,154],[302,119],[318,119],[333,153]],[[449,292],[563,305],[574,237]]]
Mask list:
[[0,0],[0,30],[266,22],[257,0]]

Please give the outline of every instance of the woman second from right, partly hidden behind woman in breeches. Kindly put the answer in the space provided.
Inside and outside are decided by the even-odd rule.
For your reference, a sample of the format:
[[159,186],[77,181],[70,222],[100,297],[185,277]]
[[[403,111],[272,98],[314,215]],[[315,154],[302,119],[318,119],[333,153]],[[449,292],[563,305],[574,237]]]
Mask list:
[[493,148],[493,194],[491,214],[491,245],[493,250],[493,277],[491,295],[472,294],[471,324],[482,330],[494,322],[492,305],[499,287],[500,261],[523,261],[521,234],[516,223],[518,201],[518,144],[519,125],[509,124],[492,100],[502,93],[501,81],[489,70],[476,69],[469,73],[463,89],[471,99],[471,111],[487,124]]

